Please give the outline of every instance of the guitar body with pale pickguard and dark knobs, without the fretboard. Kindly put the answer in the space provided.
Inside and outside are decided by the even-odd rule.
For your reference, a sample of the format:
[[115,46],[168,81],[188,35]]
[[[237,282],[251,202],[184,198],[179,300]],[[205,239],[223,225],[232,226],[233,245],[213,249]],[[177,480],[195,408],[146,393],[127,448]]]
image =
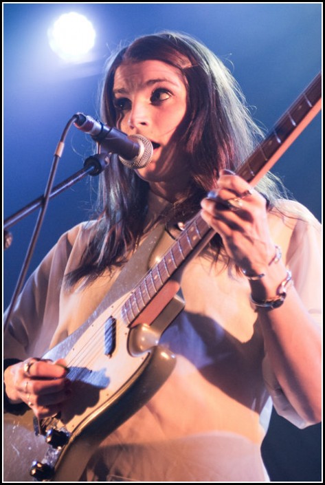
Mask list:
[[[170,244],[170,237],[166,233],[164,237]],[[175,356],[158,343],[161,333],[183,309],[183,301],[177,295],[167,301],[151,325],[130,327],[121,313],[123,302],[132,294],[129,288],[148,270],[148,255],[155,259],[166,244],[158,244],[157,249],[159,239],[161,228],[124,266],[91,318],[43,356],[65,358],[69,365],[67,377],[73,392],[60,416],[41,420],[38,426],[32,410],[23,416],[5,414],[5,481],[33,481],[30,469],[34,460],[46,465],[36,466],[38,480],[78,481],[96,446],[142,407],[172,372]],[[122,297],[112,301],[118,293]],[[58,439],[67,442],[52,446],[45,435],[57,432]]]

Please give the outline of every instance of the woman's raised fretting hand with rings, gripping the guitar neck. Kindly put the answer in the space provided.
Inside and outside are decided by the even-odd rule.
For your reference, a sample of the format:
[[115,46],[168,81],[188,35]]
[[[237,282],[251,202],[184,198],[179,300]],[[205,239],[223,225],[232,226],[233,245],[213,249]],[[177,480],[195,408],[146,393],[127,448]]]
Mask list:
[[249,274],[265,272],[274,257],[265,197],[243,178],[223,170],[201,202],[205,222],[221,235],[227,255]]

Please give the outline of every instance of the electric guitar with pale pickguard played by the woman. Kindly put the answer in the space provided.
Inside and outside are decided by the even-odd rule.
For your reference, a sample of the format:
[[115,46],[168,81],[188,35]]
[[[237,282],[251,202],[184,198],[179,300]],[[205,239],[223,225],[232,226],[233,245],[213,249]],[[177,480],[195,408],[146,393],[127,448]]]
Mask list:
[[[252,185],[321,109],[318,74],[240,166]],[[181,272],[214,230],[198,213],[172,239],[158,226],[126,263],[91,317],[43,358],[65,358],[73,394],[54,418],[6,413],[4,480],[78,481],[96,446],[155,394],[175,366],[159,338],[181,312]],[[148,261],[148,255],[150,255]]]

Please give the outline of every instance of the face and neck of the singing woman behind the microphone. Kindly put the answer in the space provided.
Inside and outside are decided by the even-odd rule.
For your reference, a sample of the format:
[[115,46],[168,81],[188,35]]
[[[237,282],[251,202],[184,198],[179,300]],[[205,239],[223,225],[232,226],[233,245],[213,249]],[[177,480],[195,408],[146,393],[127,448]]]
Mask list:
[[168,184],[181,176],[187,183],[186,157],[175,133],[187,109],[186,84],[179,69],[161,61],[122,64],[115,73],[113,94],[117,127],[153,143],[153,160],[137,170],[139,177]]

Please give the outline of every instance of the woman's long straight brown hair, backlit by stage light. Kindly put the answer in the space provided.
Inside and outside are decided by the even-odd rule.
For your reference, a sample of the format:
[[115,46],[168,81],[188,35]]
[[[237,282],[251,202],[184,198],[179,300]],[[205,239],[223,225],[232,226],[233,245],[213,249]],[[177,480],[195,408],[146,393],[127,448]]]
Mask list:
[[[142,36],[109,59],[101,94],[100,116],[115,126],[113,83],[122,63],[163,61],[179,69],[187,89],[186,125],[179,127],[181,146],[188,157],[190,184],[164,217],[186,220],[199,211],[199,202],[213,188],[221,169],[236,171],[262,138],[245,98],[229,69],[201,42],[186,34],[161,32]],[[116,156],[100,175],[98,218],[79,267],[67,277],[73,285],[82,277],[91,281],[106,268],[121,266],[144,231],[148,210],[148,183]],[[261,191],[271,200],[275,186],[264,177]],[[271,190],[270,190],[270,186]],[[212,240],[216,257],[221,247]]]

